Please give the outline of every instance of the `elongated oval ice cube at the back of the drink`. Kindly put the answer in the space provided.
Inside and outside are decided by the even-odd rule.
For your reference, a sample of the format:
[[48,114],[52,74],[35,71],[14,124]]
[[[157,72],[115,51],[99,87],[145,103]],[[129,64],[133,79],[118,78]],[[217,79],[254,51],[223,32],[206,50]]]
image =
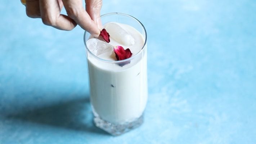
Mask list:
[[122,45],[131,46],[134,45],[135,40],[127,31],[125,31],[119,24],[110,22],[105,25],[105,29],[109,33],[110,37]]

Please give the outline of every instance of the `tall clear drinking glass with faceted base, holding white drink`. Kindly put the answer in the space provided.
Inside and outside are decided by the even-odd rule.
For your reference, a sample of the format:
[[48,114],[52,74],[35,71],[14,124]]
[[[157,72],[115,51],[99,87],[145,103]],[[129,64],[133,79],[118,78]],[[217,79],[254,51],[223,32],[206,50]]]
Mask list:
[[132,26],[144,39],[139,53],[125,60],[113,61],[91,53],[86,45],[90,33],[84,34],[94,123],[112,135],[120,135],[143,123],[148,98],[147,33],[138,19],[127,14],[104,14],[101,20],[103,25],[118,22]]

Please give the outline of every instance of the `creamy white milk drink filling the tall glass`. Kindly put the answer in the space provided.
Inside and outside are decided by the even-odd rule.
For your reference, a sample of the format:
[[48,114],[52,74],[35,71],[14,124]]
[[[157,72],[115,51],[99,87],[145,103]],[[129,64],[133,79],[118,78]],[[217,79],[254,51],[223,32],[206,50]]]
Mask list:
[[[127,41],[120,39],[122,35],[115,35],[115,29],[111,27],[114,24],[129,34],[123,34]],[[114,124],[128,123],[142,116],[147,103],[147,49],[146,46],[143,48],[145,40],[140,32],[126,24],[107,23],[103,27],[110,34],[110,45],[129,48],[133,55],[130,63],[120,66],[113,63],[116,61],[113,50],[97,56],[105,61],[87,53],[91,104],[94,114],[103,120]]]

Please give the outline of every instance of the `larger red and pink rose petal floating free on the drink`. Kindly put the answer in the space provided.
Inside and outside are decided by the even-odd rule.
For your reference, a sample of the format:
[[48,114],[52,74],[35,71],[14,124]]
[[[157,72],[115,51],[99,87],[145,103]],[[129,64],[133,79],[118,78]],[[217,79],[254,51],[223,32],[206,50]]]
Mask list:
[[130,58],[131,55],[133,55],[130,49],[125,50],[122,46],[115,46],[114,53],[116,54],[117,60],[127,59]]

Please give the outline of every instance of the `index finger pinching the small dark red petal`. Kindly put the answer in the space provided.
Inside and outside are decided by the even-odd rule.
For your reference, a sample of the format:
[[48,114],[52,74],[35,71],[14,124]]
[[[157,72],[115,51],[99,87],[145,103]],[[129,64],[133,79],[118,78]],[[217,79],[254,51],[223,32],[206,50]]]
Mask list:
[[98,37],[100,30],[96,23],[91,19],[90,15],[83,8],[82,0],[63,0],[67,14],[72,18],[82,29]]

